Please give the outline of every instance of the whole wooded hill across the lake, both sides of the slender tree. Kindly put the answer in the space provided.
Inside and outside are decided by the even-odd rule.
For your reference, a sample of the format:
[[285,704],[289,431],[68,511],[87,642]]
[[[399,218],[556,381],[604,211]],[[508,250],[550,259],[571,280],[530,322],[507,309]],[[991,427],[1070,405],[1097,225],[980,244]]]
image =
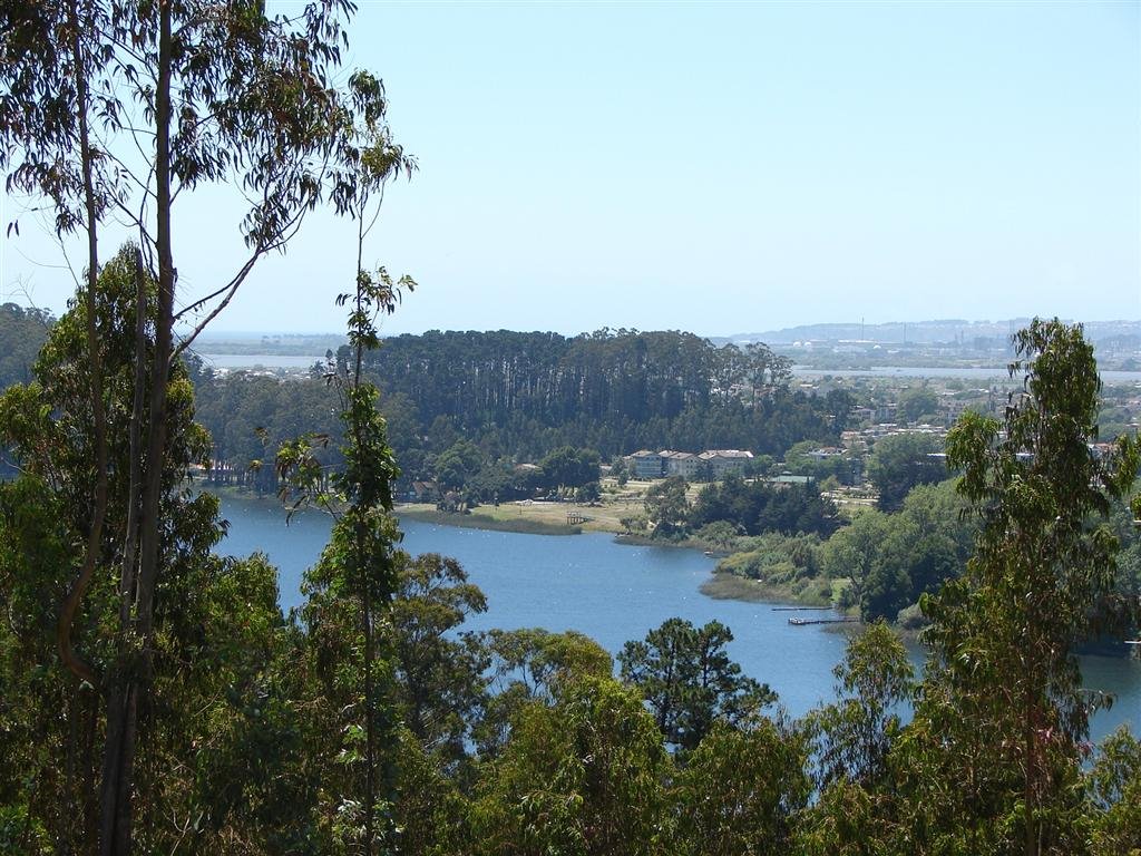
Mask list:
[[[339,354],[332,370],[345,358]],[[200,413],[217,438],[219,477],[268,488],[268,474],[249,470],[267,442],[272,447],[301,430],[335,441],[325,373],[318,366],[313,377],[289,382],[204,373]],[[382,390],[402,490],[443,475],[448,487],[470,486],[470,499],[482,501],[526,495],[515,466],[565,447],[609,460],[639,449],[748,449],[779,457],[807,439],[834,444],[852,405],[843,391],[790,390],[786,363],[763,346],[717,348],[678,332],[399,336],[370,355],[365,373]],[[456,458],[464,462],[460,470]],[[556,476],[550,485],[536,484],[572,483]]]

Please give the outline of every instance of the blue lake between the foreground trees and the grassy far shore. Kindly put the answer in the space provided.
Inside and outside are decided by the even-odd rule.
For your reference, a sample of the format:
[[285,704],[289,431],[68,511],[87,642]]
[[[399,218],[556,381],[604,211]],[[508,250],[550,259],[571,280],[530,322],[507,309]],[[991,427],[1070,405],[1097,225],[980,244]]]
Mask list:
[[[273,503],[229,498],[222,500],[222,515],[230,526],[219,551],[265,552],[280,570],[282,607],[298,606],[301,575],[329,538],[329,519],[307,512],[286,526]],[[832,668],[843,656],[845,633],[835,625],[793,627],[790,613],[770,604],[705,597],[698,587],[714,560],[696,550],[631,547],[601,533],[525,535],[415,520],[402,522],[402,528],[404,549],[456,558],[487,596],[487,612],[467,629],[578,630],[616,653],[675,615],[694,624],[717,619],[734,632],[730,656],[746,675],[771,686],[792,716],[834,697]],[[917,647],[912,655],[922,661]],[[1118,696],[1093,718],[1093,736],[1100,740],[1122,722],[1141,734],[1141,661],[1087,656],[1082,672],[1089,688]]]

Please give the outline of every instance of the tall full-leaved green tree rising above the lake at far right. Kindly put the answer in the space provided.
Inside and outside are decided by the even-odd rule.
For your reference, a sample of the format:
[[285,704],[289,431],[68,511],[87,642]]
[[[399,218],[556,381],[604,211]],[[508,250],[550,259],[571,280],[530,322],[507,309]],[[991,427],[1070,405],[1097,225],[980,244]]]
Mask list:
[[981,533],[966,574],[924,601],[936,668],[917,720],[993,759],[1000,775],[962,778],[988,807],[976,823],[1034,856],[1081,834],[1071,782],[1087,706],[1073,649],[1127,614],[1108,608],[1117,539],[1103,518],[1132,486],[1139,451],[1130,439],[1104,459],[1090,451],[1101,383],[1079,326],[1036,320],[1014,345],[1022,390],[1005,420],[966,414],[947,441]]

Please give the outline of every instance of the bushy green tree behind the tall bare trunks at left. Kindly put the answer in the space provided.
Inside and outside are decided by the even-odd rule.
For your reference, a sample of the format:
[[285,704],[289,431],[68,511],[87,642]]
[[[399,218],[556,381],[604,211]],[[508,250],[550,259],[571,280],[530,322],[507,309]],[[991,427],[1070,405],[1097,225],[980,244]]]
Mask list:
[[[75,546],[89,538],[91,491],[99,479],[86,296],[52,329],[35,382],[0,397],[0,431],[23,469],[19,479],[0,487],[0,595],[19,616],[0,630],[6,697],[0,740],[5,757],[26,776],[0,791],[0,803],[18,807],[56,851],[92,851],[100,840],[98,759],[111,738],[106,697],[116,686],[116,669],[138,669],[143,662],[141,652],[124,652],[118,632],[120,570],[131,562],[130,541],[122,533],[132,522],[127,500],[137,475],[130,458],[130,399],[137,366],[146,361],[135,350],[137,330],[146,326],[135,316],[137,273],[135,253],[122,252],[100,272],[94,301],[113,501],[87,597],[76,605],[74,627],[67,628],[94,683],[75,680],[57,654],[58,605],[87,562]],[[145,285],[153,289],[153,283]],[[152,348],[153,340],[144,337],[141,346]],[[141,734],[132,764],[133,782],[147,794],[135,837],[149,851],[177,847],[178,824],[195,801],[199,816],[208,821],[208,840],[217,840],[209,838],[216,833],[225,837],[224,800],[211,791],[209,783],[216,780],[209,772],[229,751],[228,738],[243,710],[257,703],[283,632],[274,570],[260,559],[212,556],[222,532],[217,500],[185,490],[188,468],[202,460],[209,441],[193,423],[191,386],[180,364],[171,370],[167,407],[160,506],[165,525],[159,555],[168,571],[156,591],[155,638],[146,659],[152,694],[139,705],[151,727]],[[228,831],[233,834],[232,826]]]

